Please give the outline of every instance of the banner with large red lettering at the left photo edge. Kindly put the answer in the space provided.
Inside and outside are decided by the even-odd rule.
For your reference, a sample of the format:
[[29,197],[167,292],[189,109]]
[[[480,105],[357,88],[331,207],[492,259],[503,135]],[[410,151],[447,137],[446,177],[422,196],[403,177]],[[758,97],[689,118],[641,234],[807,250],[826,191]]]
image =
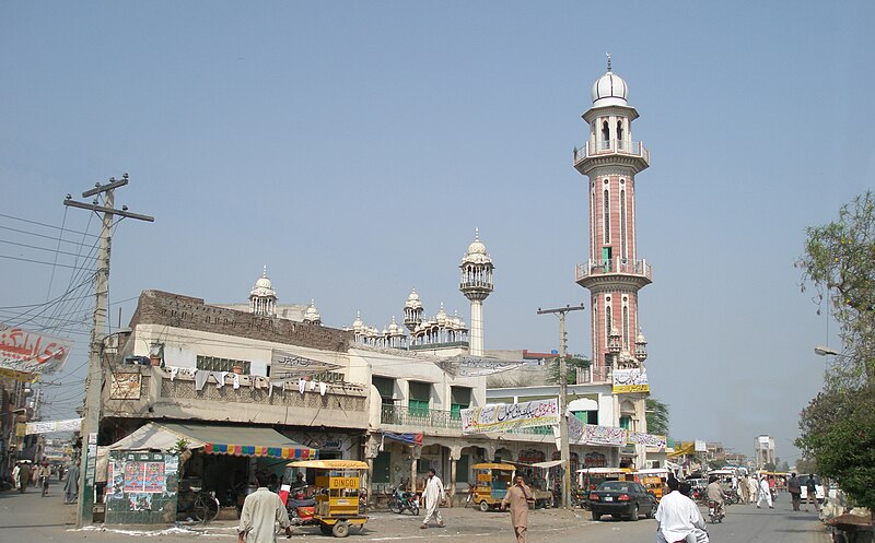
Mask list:
[[0,368],[25,374],[52,374],[63,367],[72,347],[72,340],[22,328],[5,328],[0,331]]

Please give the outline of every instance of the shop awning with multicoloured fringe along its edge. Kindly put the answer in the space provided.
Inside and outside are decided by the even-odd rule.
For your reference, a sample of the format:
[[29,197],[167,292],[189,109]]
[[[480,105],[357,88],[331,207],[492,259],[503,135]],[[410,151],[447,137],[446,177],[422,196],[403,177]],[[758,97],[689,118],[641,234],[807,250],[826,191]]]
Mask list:
[[187,436],[190,441],[203,444],[203,452],[208,455],[269,457],[285,460],[318,458],[316,449],[293,441],[273,428],[185,423],[160,423],[159,426],[173,434]]

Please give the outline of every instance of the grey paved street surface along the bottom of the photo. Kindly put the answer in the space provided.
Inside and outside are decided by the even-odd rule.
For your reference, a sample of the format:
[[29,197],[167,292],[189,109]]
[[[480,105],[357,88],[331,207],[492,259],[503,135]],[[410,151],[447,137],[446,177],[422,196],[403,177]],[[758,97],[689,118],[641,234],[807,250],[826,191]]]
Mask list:
[[[464,540],[465,543],[512,543],[513,533],[508,514],[480,512],[472,509],[442,509],[446,528],[420,530],[422,517],[376,512],[365,531],[349,536],[350,543],[364,542],[446,542]],[[178,543],[197,539],[233,543],[236,541],[234,522],[213,522],[200,526],[163,529],[156,527],[109,527],[74,530],[73,506],[65,506],[60,486],[56,485],[48,497],[35,489],[25,495],[0,493],[0,542],[77,542],[132,543],[139,536],[150,541]],[[532,543],[653,543],[656,523],[641,519],[638,522],[615,521],[610,517],[593,522],[583,510],[558,509],[533,511],[529,516]],[[793,512],[786,495],[775,504],[775,509],[757,509],[754,506],[731,506],[726,519],[720,524],[709,524],[711,541],[715,543],[827,543],[829,539],[814,512]],[[326,543],[331,539],[320,535],[318,529],[295,529],[290,543]]]

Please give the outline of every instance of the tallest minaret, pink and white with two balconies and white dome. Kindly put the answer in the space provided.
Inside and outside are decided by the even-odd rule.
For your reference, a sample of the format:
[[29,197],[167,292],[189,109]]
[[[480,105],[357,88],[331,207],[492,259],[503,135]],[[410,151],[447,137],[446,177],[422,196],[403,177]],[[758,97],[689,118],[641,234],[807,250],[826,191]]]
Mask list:
[[578,264],[578,284],[591,293],[591,379],[610,379],[615,365],[638,367],[646,340],[638,318],[638,291],[653,280],[635,247],[635,174],[650,166],[650,151],[632,139],[638,111],[629,87],[610,69],[593,85],[593,107],[583,114],[590,140],[574,150],[574,167],[590,178],[590,253]]

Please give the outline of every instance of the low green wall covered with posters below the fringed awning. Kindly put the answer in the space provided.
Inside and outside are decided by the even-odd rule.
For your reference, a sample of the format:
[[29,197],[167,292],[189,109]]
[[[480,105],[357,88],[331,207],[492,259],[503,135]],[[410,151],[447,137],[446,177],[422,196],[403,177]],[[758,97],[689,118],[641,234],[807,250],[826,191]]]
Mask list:
[[179,457],[170,452],[109,451],[107,524],[164,524],[176,520]]

